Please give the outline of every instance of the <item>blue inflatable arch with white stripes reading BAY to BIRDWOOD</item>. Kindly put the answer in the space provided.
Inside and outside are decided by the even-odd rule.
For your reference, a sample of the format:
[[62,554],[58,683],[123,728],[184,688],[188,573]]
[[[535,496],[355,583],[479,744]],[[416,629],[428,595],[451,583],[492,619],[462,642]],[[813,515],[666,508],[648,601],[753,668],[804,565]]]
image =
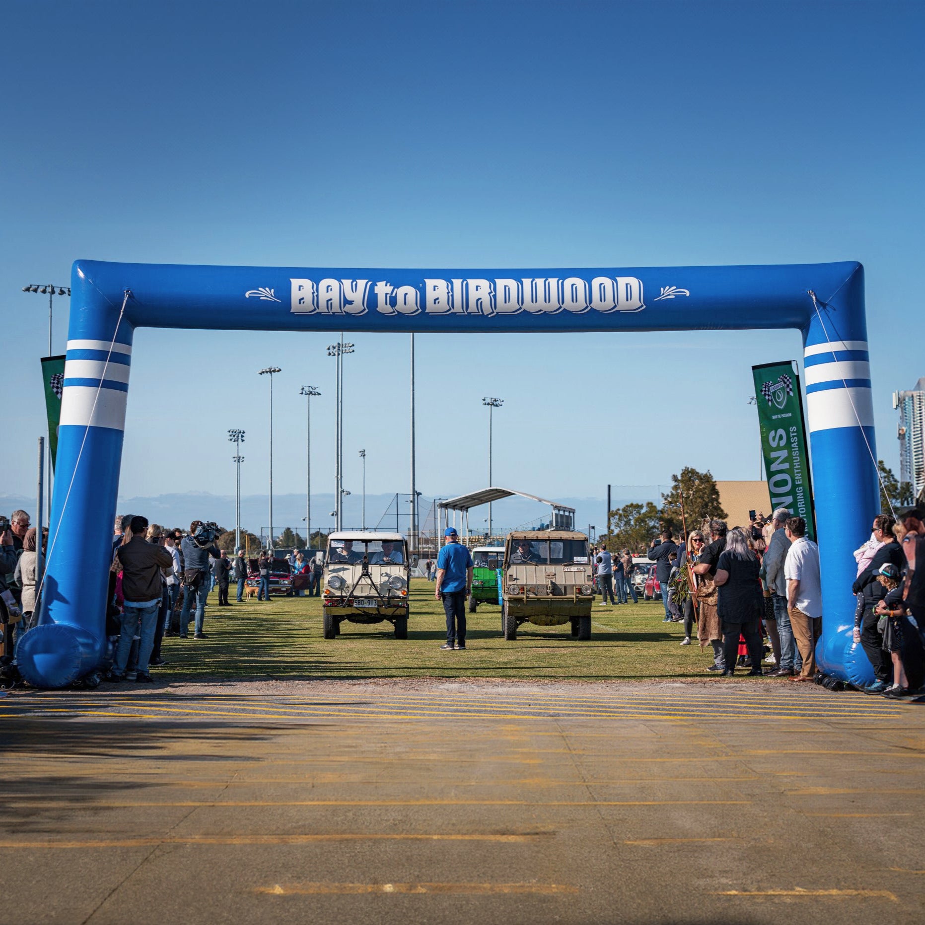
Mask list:
[[615,269],[306,269],[78,261],[40,624],[19,669],[60,687],[105,648],[129,370],[140,327],[226,330],[668,331],[803,336],[823,580],[820,667],[872,677],[851,644],[852,550],[879,511],[864,271],[857,263]]

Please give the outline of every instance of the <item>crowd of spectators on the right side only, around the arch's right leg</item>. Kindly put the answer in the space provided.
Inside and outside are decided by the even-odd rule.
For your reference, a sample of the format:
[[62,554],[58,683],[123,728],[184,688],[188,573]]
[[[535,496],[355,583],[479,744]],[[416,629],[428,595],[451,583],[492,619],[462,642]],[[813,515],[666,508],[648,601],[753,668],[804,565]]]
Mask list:
[[[916,572],[916,561],[925,561],[923,518],[918,508],[902,512],[898,523],[880,514],[855,552],[854,641],[875,675],[864,688],[868,694],[925,693],[925,567]],[[701,650],[710,649],[708,672],[730,677],[741,668],[749,675],[820,680],[819,547],[805,520],[787,509],[732,530],[711,520],[680,543],[664,530],[636,564],[628,549],[614,555],[601,544],[592,554],[600,606],[625,603],[631,591],[635,599],[631,570],[651,570],[663,620],[684,623],[682,646],[691,645],[696,628]],[[624,589],[623,595],[615,599],[613,589]]]

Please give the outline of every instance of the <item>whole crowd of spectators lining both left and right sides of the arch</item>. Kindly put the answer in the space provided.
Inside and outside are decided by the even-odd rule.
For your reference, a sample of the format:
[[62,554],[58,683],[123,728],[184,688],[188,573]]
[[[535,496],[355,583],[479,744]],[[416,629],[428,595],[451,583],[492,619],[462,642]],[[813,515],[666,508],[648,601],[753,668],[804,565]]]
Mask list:
[[[925,513],[912,508],[899,517],[874,518],[870,538],[855,552],[857,598],[854,641],[870,660],[869,694],[920,695],[925,685]],[[256,575],[243,549],[234,559],[193,521],[186,533],[149,524],[142,516],[116,520],[110,573],[107,634],[113,639],[111,681],[151,681],[150,668],[166,664],[165,636],[203,639],[210,590],[217,606],[231,607],[229,586],[243,599],[249,578],[258,580],[258,600],[269,598],[273,560],[262,552]],[[43,539],[47,530],[43,531]],[[203,536],[207,538],[203,540]],[[0,517],[0,599],[4,602],[4,652],[35,623],[37,533],[30,515]],[[44,541],[43,541],[44,545]],[[637,602],[634,555],[629,549],[592,549],[600,606]],[[695,637],[710,650],[708,672],[725,677],[743,669],[793,681],[817,679],[816,644],[822,628],[819,548],[801,517],[780,508],[765,522],[730,530],[712,520],[675,541],[664,530],[651,541],[644,561],[654,565],[663,620],[684,623],[682,646]],[[319,596],[320,555],[293,549],[286,557],[297,595]],[[433,563],[425,573],[432,577]],[[767,639],[768,645],[764,640]],[[766,651],[769,651],[766,657]],[[925,697],[923,697],[925,699]]]

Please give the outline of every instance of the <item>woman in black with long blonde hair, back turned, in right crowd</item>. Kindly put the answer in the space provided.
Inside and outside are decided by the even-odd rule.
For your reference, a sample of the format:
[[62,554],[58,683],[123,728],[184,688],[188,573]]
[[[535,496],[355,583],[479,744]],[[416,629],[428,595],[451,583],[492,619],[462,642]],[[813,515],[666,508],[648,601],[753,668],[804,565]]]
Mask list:
[[723,677],[735,673],[739,635],[746,640],[752,667],[748,674],[761,675],[764,646],[761,643],[761,615],[764,598],[761,595],[758,556],[748,548],[748,536],[741,527],[730,530],[726,549],[716,563],[714,582],[719,588],[717,611],[722,621],[722,649],[726,660]]

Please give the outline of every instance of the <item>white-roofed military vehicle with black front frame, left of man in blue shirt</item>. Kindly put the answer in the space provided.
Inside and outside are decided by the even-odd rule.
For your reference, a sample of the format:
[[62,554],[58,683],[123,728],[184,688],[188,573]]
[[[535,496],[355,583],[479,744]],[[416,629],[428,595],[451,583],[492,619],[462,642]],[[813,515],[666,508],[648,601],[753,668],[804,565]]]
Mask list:
[[400,533],[330,534],[322,576],[325,638],[333,639],[349,620],[391,623],[395,638],[407,639],[411,564]]

